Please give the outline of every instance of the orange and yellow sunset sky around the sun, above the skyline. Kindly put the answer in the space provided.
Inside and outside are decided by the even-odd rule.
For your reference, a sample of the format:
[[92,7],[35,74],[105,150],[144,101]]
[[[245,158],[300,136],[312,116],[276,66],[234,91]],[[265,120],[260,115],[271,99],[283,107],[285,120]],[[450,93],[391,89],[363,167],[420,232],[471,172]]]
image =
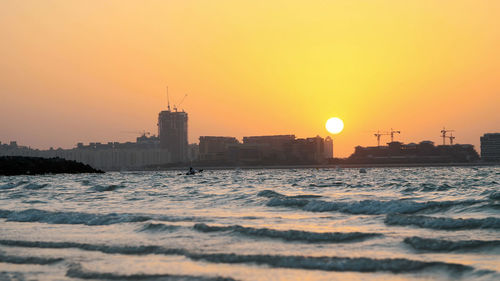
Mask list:
[[[500,1],[0,1],[0,141],[46,149],[157,133],[396,140],[479,150],[500,131]],[[383,137],[382,142],[389,141]]]

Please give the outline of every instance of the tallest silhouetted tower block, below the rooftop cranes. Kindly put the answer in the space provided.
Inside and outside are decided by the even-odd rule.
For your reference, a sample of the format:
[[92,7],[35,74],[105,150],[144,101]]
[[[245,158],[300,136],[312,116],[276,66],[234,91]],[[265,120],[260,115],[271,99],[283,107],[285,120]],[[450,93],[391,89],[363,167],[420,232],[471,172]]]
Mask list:
[[184,111],[165,110],[158,115],[160,148],[167,149],[172,162],[188,160],[188,115]]

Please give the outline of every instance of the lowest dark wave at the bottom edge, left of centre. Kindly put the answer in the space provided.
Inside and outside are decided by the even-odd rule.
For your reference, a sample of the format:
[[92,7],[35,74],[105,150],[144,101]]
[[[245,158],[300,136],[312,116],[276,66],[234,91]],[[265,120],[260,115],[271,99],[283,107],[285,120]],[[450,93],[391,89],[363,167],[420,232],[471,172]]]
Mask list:
[[172,275],[172,274],[116,274],[88,271],[82,268],[79,264],[72,264],[66,271],[66,276],[79,279],[104,279],[104,280],[182,280],[182,281],[233,281],[232,278],[226,277],[205,277],[205,276],[190,276],[190,275]]

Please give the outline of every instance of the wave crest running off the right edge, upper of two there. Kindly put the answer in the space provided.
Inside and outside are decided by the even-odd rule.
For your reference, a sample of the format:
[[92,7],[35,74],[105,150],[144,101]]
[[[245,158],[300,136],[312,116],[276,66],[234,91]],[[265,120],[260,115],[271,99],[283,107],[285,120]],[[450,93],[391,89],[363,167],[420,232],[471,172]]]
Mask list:
[[385,221],[387,225],[413,225],[430,229],[500,229],[500,218],[488,217],[484,219],[453,219],[429,216],[411,216],[389,214]]

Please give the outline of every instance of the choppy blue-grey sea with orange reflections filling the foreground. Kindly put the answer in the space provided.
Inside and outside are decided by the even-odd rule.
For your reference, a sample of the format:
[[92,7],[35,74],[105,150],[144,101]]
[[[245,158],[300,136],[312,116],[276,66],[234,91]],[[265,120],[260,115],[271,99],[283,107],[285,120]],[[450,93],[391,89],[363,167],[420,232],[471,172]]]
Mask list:
[[500,167],[0,177],[0,280],[500,280]]

